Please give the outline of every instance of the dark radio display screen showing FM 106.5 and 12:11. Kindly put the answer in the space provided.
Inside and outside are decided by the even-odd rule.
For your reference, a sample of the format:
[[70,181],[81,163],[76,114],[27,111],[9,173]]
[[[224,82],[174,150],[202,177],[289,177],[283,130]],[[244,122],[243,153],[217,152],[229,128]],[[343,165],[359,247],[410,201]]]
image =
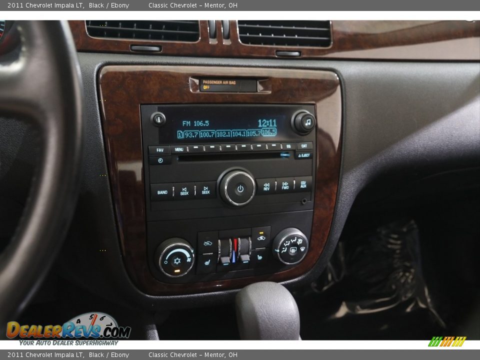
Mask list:
[[291,139],[291,116],[309,105],[164,105],[160,142],[262,142]]

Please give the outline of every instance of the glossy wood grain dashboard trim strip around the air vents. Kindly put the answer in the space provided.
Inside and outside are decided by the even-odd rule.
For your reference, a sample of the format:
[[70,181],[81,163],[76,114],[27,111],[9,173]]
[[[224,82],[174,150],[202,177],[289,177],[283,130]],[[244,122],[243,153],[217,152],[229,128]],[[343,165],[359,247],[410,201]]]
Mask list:
[[230,39],[208,38],[208,22],[200,20],[197,42],[105,39],[86,33],[85,21],[71,20],[78,51],[132,53],[130,45],[161,45],[152,56],[279,58],[277,50],[299,50],[301,58],[480,61],[480,21],[331,21],[333,43],[328,48],[257,46],[239,41],[236,21]]

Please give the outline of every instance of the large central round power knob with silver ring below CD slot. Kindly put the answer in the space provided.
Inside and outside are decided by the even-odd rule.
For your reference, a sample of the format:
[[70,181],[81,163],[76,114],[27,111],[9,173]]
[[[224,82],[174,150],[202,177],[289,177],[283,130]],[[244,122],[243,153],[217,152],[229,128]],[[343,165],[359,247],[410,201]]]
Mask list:
[[255,179],[243,170],[227,172],[220,180],[220,197],[233,206],[246,205],[255,195]]

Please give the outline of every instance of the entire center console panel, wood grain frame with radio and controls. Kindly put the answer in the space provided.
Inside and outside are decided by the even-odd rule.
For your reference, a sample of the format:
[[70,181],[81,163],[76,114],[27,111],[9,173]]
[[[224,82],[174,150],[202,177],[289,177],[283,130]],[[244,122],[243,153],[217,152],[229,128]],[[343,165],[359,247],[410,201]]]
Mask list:
[[141,290],[214,291],[313,266],[338,182],[334,73],[105,66],[99,89],[121,248]]

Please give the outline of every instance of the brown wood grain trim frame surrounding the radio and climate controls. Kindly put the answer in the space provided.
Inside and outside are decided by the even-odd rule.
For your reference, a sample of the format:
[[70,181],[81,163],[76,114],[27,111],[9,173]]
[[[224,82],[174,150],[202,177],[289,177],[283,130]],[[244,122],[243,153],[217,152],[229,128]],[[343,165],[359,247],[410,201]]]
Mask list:
[[[190,90],[190,77],[248,76],[270,82],[266,93],[210,93]],[[109,179],[125,267],[132,281],[151,295],[186,294],[242,287],[259,280],[282,281],[311,269],[325,245],[340,169],[341,94],[329,71],[198,67],[105,66],[98,76]],[[159,85],[161,84],[161,86]],[[310,249],[286,271],[194,284],[167,284],[148,269],[140,104],[146,103],[309,103],[316,106],[317,163]],[[321,169],[321,170],[320,170]]]

